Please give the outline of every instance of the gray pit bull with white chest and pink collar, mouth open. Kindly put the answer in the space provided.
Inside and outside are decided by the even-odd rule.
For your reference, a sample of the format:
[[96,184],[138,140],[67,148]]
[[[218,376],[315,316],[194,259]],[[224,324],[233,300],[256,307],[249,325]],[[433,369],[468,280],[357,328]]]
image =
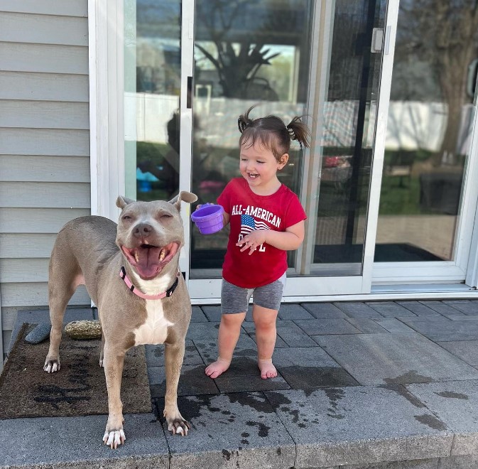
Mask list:
[[124,355],[141,344],[165,345],[164,416],[168,429],[188,434],[178,409],[178,381],[183,365],[191,302],[179,272],[184,244],[181,201],[195,194],[180,192],[170,202],[116,200],[119,222],[104,217],[80,217],[58,233],[50,259],[50,350],[43,370],[60,370],[59,347],[63,316],[78,285],[85,285],[98,307],[102,325],[99,366],[108,391],[105,444],[116,448],[126,439],[120,389]]

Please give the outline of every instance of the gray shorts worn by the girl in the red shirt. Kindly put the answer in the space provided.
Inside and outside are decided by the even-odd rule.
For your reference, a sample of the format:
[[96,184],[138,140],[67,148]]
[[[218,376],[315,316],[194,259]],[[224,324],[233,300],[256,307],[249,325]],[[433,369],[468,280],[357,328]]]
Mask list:
[[253,296],[252,300],[255,305],[278,311],[281,306],[284,286],[286,286],[285,273],[271,284],[258,286],[256,289],[243,289],[222,279],[221,313],[245,313],[251,296]]

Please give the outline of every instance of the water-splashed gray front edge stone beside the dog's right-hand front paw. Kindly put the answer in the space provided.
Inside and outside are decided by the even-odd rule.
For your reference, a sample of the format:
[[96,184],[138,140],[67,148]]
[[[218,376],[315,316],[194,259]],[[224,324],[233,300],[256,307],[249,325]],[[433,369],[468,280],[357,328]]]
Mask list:
[[187,438],[165,431],[171,469],[294,465],[295,443],[264,394],[183,397],[178,405],[192,429]]

